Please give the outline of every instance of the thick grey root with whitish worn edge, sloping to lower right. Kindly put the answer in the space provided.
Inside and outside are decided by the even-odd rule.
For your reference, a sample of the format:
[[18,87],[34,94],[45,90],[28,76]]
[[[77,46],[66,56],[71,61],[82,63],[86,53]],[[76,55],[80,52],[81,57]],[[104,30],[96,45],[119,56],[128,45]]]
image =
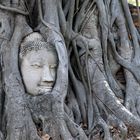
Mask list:
[[[85,57],[83,56],[83,60]],[[140,128],[140,121],[138,118],[134,117],[115,97],[115,94],[110,89],[107,81],[104,78],[103,73],[101,73],[100,69],[96,66],[95,60],[89,58],[88,60],[88,69],[90,70],[90,77],[92,78],[92,90],[95,94],[95,98],[97,98],[100,102],[104,104],[107,110],[111,113],[115,114],[115,116],[122,120],[128,126],[133,126],[137,130]],[[82,61],[84,62],[84,61]],[[84,64],[84,63],[82,63]],[[99,64],[99,63],[98,63]],[[101,64],[101,62],[100,62]],[[84,67],[84,65],[83,65]],[[95,69],[96,68],[96,69]],[[94,72],[93,72],[94,70]],[[100,74],[99,74],[100,73]],[[97,76],[98,75],[98,76]],[[94,81],[94,82],[93,82]],[[125,129],[123,127],[118,126],[122,129],[122,133],[125,133]],[[124,127],[125,128],[125,127]],[[125,134],[124,134],[125,135]]]

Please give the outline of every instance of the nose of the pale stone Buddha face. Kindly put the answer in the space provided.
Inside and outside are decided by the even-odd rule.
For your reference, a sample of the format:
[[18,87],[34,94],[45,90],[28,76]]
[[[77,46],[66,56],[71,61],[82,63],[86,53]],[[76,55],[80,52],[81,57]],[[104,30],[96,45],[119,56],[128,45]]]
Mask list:
[[54,81],[49,66],[44,66],[42,71],[42,82],[52,83]]

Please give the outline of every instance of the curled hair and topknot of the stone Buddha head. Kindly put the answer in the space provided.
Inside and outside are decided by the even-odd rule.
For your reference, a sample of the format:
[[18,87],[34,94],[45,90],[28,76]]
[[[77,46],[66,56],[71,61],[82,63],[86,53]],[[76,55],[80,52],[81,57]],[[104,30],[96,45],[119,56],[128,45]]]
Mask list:
[[56,53],[55,46],[49,42],[45,42],[42,35],[38,32],[33,32],[26,36],[20,45],[19,57],[22,59],[28,52],[38,51],[46,48],[47,51]]

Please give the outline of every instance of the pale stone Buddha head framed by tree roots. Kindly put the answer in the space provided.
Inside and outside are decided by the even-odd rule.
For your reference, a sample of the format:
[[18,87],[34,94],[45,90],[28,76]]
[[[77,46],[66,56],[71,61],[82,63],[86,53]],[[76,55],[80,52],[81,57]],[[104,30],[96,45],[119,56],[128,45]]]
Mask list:
[[20,69],[27,93],[40,95],[51,92],[57,71],[57,53],[53,45],[34,32],[21,43]]

